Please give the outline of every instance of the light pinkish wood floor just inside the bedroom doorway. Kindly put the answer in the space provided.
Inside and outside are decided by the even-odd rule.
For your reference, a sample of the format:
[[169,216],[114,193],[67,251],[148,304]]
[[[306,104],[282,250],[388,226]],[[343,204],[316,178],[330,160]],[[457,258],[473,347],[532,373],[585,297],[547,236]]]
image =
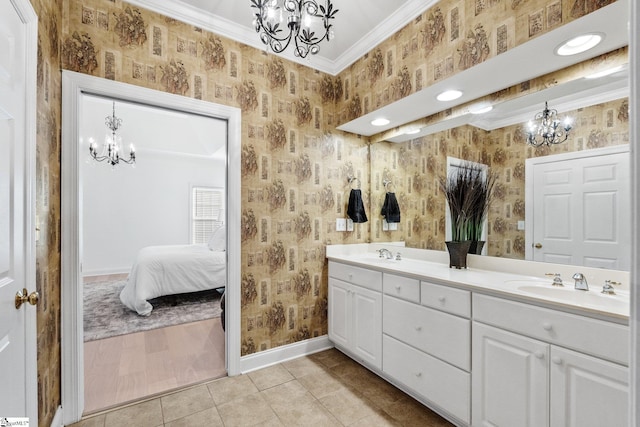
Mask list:
[[226,374],[220,318],[86,342],[84,413]]

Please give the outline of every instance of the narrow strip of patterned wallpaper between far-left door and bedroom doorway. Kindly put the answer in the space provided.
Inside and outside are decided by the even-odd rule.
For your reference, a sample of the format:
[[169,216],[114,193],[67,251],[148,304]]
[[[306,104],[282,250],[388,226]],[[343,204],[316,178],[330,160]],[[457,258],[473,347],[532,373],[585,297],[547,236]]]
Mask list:
[[60,405],[61,0],[31,0],[38,15],[36,129],[36,290],[39,424]]

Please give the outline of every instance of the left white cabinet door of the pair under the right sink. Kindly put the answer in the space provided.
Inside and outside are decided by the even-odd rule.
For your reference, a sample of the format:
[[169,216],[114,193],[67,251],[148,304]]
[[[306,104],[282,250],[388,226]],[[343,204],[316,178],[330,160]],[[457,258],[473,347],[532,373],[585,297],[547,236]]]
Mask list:
[[474,426],[549,425],[549,345],[473,322]]

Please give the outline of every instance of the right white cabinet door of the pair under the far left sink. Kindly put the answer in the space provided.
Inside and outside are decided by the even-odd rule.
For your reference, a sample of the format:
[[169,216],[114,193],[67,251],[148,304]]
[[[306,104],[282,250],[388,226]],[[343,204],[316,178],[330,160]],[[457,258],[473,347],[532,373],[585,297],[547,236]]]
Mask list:
[[353,288],[353,347],[356,356],[382,368],[382,294]]

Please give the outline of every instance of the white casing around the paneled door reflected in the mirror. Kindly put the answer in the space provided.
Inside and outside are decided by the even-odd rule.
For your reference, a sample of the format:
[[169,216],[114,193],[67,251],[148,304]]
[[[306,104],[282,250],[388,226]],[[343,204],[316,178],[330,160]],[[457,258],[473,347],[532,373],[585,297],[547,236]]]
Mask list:
[[[585,159],[587,157],[599,157],[611,154],[621,154],[630,152],[629,144],[613,145],[603,148],[592,148],[582,151],[572,151],[570,153],[553,154],[550,156],[532,157],[525,160],[524,182],[524,259],[533,260],[533,167],[545,163],[555,163],[567,160]],[[632,182],[633,183],[633,182]],[[631,194],[629,195],[631,197]],[[629,203],[632,206],[632,202]],[[633,219],[632,219],[633,223]],[[632,239],[633,240],[633,239]],[[633,243],[632,243],[633,244]],[[633,262],[633,261],[632,261]]]

